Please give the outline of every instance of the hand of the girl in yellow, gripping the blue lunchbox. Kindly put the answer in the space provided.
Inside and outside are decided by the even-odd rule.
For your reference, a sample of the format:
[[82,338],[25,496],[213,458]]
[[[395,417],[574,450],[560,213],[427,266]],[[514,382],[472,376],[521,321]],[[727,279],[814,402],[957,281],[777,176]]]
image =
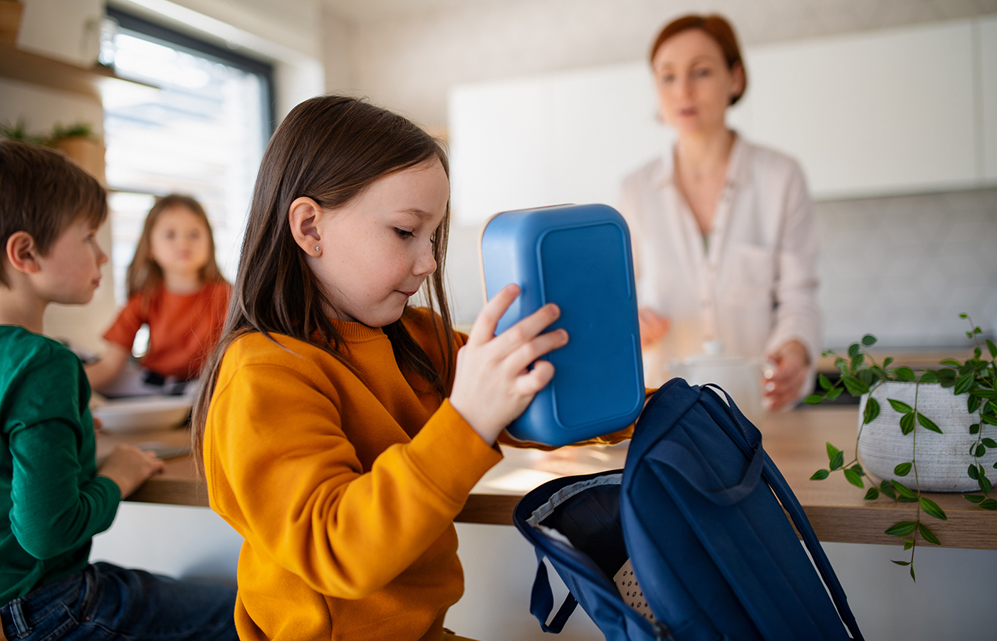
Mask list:
[[[560,316],[552,303],[496,336],[498,319],[518,295],[516,285],[499,291],[482,309],[467,344],[457,353],[450,403],[489,445],[553,378],[554,366],[536,359],[567,344],[563,329],[540,334]],[[533,368],[527,369],[530,365]]]

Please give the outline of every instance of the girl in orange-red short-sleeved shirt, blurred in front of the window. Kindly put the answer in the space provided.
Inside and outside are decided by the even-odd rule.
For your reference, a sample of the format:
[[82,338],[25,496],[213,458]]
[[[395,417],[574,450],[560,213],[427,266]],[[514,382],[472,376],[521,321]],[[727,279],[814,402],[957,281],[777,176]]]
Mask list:
[[[86,367],[91,387],[108,397],[182,393],[221,333],[231,294],[195,199],[171,194],[150,209],[128,268],[128,294],[104,334],[108,352]],[[132,344],[144,324],[149,349],[140,367],[131,360]]]

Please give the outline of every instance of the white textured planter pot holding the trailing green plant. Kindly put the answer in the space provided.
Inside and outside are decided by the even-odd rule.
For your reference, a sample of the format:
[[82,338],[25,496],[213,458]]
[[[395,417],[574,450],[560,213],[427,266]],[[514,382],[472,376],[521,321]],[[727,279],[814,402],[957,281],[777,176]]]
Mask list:
[[[979,415],[966,411],[968,395],[955,396],[952,388],[942,388],[937,383],[922,383],[917,389],[917,412],[934,421],[942,434],[926,430],[920,424],[914,432],[904,436],[900,432],[900,413],[893,410],[887,399],[902,401],[914,406],[914,383],[891,381],[879,385],[872,396],[879,403],[879,416],[861,426],[868,394],[863,395],[858,406],[858,455],[865,472],[880,480],[897,479],[908,487],[914,486],[914,473],[897,477],[893,468],[914,460],[914,436],[917,437],[917,481],[928,491],[972,491],[979,489],[976,481],[966,474],[973,458],[969,448],[977,437],[969,434],[969,426],[979,423]],[[997,428],[984,424],[983,436],[997,438]],[[997,460],[997,450],[987,450],[979,460],[991,481],[997,481],[997,471],[992,466]]]

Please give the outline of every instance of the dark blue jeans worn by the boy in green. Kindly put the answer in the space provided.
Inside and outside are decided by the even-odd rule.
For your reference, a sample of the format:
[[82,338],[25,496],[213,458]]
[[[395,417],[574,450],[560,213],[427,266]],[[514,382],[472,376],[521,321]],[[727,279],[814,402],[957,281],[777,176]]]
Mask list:
[[9,641],[237,641],[235,591],[94,563],[0,608]]

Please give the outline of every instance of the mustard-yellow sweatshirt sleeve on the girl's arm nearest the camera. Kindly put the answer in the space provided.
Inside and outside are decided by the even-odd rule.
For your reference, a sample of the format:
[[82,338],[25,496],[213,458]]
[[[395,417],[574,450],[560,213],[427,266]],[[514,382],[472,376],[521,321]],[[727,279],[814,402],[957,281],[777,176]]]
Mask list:
[[215,391],[204,452],[211,507],[311,589],[359,599],[442,535],[501,455],[445,402],[365,471],[340,419],[357,395],[307,370],[242,366]]

